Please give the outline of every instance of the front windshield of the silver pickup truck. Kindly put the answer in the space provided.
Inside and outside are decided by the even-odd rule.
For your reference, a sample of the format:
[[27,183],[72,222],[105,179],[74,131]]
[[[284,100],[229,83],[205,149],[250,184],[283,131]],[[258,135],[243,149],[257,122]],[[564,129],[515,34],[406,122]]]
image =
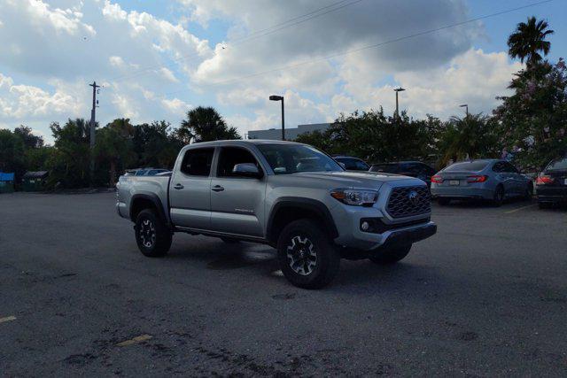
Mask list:
[[258,149],[275,174],[343,171],[335,160],[304,144],[259,144]]

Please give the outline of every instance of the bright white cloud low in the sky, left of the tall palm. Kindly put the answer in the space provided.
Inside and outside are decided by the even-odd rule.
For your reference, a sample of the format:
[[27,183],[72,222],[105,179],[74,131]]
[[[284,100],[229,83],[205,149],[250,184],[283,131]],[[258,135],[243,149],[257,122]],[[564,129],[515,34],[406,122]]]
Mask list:
[[333,97],[333,106],[343,112],[355,109],[384,109],[393,112],[395,94],[400,85],[407,89],[400,94],[400,109],[415,117],[427,113],[447,118],[459,114],[459,104],[469,104],[470,112],[490,112],[498,104],[496,96],[505,95],[512,74],[521,68],[510,63],[505,52],[488,53],[468,50],[447,65],[429,70],[416,70],[393,75],[396,83],[375,86],[381,75],[361,60],[346,59],[341,67],[345,92]]

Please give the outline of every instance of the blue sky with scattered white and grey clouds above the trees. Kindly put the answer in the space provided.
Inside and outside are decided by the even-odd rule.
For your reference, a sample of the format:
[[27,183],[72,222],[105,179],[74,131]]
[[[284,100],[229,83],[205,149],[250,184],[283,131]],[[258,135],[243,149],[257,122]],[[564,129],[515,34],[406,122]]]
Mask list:
[[[0,0],[0,127],[51,121],[168,120],[212,105],[244,135],[395,106],[419,118],[491,112],[520,67],[506,39],[528,16],[567,47],[567,1],[553,0]],[[513,8],[531,7],[506,12]],[[506,12],[479,19],[485,15]],[[455,27],[455,24],[459,24]],[[432,33],[423,33],[438,29]]]

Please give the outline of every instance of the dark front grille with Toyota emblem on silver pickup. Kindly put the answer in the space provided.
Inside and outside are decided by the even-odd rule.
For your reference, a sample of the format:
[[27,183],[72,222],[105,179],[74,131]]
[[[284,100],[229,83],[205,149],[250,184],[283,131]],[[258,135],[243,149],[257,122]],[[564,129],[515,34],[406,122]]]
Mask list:
[[[412,195],[416,193],[415,195]],[[414,197],[415,199],[411,199]],[[390,193],[386,211],[392,218],[404,218],[431,212],[431,195],[429,188],[402,187],[394,188]]]

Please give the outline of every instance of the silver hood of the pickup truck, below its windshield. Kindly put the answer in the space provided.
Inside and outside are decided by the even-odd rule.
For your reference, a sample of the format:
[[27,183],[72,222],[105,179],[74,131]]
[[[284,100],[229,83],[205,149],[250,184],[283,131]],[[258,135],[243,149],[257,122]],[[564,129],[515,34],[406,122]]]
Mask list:
[[400,174],[384,174],[380,172],[338,171],[338,172],[301,172],[296,177],[328,181],[336,188],[344,189],[380,189],[384,182],[408,181],[408,185],[425,185],[421,180]]

